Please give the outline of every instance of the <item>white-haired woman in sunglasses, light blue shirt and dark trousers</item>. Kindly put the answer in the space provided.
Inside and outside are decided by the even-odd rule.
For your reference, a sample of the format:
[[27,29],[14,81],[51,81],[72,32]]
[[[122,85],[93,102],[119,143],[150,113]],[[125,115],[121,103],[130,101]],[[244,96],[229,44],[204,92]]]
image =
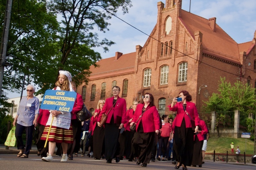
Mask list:
[[[13,120],[13,126],[16,125],[15,137],[17,139],[17,147],[20,150],[17,157],[28,158],[28,154],[32,145],[33,130],[37,126],[37,117],[39,114],[39,100],[34,97],[35,86],[27,86],[27,96],[23,97],[19,103],[17,115]],[[22,133],[26,130],[26,145],[24,147]]]

